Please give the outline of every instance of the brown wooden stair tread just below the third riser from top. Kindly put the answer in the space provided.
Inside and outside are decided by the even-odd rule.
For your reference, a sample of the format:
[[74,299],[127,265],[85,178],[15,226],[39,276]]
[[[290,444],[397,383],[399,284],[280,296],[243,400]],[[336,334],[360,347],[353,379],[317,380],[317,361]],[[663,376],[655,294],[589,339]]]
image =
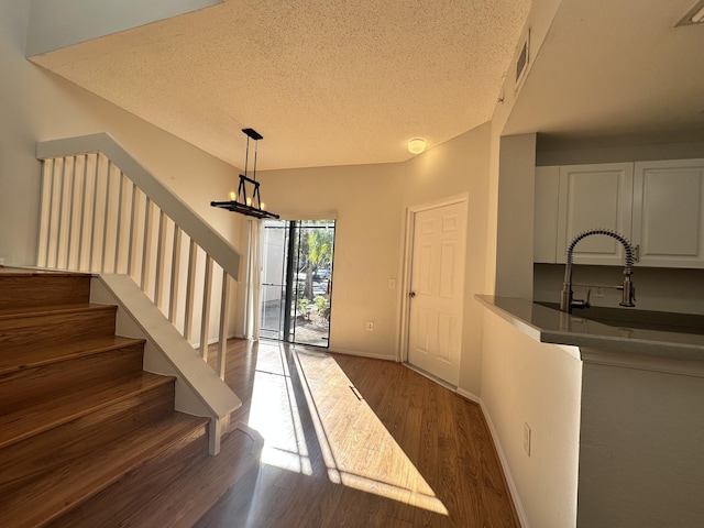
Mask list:
[[144,393],[175,377],[139,372],[122,380],[78,387],[38,404],[0,416],[0,449],[86,416],[134,394]]

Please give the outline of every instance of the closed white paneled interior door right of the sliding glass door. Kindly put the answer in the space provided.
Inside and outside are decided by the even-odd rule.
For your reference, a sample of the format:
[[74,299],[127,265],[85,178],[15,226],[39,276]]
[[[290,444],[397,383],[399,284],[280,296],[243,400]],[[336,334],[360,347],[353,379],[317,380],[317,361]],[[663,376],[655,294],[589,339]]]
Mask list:
[[466,201],[414,215],[408,363],[458,385]]

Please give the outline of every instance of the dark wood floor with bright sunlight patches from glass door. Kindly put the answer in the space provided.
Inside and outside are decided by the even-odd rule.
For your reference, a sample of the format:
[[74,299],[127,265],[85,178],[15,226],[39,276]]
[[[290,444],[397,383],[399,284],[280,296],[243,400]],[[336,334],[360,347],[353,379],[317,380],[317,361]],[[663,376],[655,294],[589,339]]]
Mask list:
[[235,340],[226,381],[265,443],[200,528],[519,526],[480,407],[400,364]]

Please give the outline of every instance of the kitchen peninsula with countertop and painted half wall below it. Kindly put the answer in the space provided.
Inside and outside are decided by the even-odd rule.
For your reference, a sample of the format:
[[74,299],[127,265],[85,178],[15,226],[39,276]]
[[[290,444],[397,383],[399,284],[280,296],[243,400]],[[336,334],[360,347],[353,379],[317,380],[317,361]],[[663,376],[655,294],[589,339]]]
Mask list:
[[[512,471],[546,482],[554,464],[572,463],[554,453],[576,453],[579,468],[559,474],[576,493],[576,519],[559,526],[701,527],[704,317],[630,308],[564,314],[530,300],[475,298],[497,316],[485,321],[482,391],[492,419],[505,425]],[[574,417],[579,426],[570,429]],[[524,424],[541,438],[528,453],[534,464],[521,450]],[[543,451],[534,454],[538,446]]]

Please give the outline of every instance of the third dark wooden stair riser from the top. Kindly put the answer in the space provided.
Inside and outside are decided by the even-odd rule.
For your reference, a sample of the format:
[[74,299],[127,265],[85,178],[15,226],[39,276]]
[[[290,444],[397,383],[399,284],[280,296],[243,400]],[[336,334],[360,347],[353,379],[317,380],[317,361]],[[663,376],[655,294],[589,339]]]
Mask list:
[[134,344],[95,355],[24,369],[0,376],[0,413],[10,413],[48,395],[142,371],[144,346]]

